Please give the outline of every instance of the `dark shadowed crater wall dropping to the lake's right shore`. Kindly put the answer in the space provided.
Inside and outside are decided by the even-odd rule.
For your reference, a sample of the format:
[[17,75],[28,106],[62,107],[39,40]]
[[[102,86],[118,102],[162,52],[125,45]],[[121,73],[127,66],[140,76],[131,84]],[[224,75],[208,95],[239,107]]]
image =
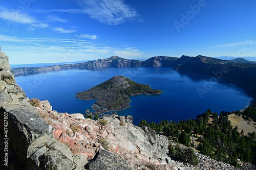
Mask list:
[[177,70],[198,72],[218,80],[226,80],[246,89],[256,97],[256,64],[236,63],[205,56],[192,57],[186,63],[176,66]]

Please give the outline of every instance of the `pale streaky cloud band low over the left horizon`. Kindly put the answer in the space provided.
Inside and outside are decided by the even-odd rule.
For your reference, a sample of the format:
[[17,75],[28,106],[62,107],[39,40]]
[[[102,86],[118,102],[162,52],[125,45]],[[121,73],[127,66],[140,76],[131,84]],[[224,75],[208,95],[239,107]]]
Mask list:
[[4,42],[2,50],[10,56],[11,64],[38,62],[66,62],[108,58],[118,55],[123,58],[143,58],[144,53],[135,47],[122,47],[115,43],[59,38],[18,38],[0,34]]

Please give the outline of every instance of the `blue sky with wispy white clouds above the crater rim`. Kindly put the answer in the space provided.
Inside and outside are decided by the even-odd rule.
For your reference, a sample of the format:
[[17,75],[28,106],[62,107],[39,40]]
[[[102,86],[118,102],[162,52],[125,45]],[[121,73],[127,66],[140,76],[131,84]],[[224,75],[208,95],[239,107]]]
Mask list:
[[3,0],[11,64],[182,55],[256,56],[255,0]]

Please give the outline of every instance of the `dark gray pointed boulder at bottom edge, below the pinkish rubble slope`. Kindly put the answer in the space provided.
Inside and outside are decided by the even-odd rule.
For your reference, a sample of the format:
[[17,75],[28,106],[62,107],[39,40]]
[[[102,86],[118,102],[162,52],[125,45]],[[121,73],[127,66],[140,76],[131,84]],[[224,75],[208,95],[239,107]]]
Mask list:
[[132,170],[123,157],[105,150],[99,150],[86,168],[90,170]]

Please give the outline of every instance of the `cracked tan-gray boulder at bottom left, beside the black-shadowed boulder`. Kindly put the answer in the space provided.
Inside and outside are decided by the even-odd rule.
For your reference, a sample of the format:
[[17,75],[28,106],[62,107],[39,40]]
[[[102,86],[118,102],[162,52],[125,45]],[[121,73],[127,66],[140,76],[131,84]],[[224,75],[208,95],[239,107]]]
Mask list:
[[44,135],[30,144],[27,153],[27,169],[84,169],[88,161],[74,155],[63,143]]

